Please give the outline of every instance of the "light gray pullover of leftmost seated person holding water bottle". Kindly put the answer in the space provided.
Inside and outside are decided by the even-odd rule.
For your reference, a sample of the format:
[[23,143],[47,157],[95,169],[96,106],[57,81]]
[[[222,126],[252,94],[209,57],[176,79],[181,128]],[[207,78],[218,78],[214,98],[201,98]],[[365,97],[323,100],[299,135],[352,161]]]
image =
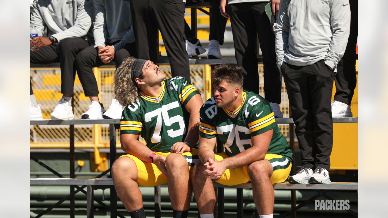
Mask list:
[[34,0],[32,6],[30,24],[39,36],[47,26],[47,35],[58,42],[69,37],[86,38],[92,25],[92,0]]

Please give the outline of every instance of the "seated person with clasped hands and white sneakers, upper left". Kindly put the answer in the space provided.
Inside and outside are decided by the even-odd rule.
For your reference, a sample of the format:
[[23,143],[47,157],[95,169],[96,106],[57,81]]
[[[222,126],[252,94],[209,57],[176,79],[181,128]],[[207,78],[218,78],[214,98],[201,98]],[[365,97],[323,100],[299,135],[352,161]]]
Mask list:
[[114,60],[117,69],[125,58],[135,56],[130,3],[123,0],[94,0],[94,15],[94,45],[85,48],[75,59],[78,75],[88,83],[88,89],[84,89],[85,96],[92,101],[90,109],[81,114],[81,118],[120,119],[123,106],[114,98],[111,106],[102,114],[93,67]]

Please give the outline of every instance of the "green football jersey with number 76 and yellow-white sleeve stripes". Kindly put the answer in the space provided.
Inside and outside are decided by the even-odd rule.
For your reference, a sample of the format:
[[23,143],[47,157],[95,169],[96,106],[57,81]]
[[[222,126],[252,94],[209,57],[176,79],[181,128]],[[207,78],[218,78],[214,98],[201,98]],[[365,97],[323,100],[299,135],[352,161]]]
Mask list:
[[252,147],[251,137],[273,129],[267,154],[280,154],[292,161],[292,152],[286,138],[280,133],[272,107],[260,95],[243,91],[241,104],[235,111],[217,107],[214,97],[201,107],[199,135],[217,136],[217,144],[224,145],[228,156],[234,156]]

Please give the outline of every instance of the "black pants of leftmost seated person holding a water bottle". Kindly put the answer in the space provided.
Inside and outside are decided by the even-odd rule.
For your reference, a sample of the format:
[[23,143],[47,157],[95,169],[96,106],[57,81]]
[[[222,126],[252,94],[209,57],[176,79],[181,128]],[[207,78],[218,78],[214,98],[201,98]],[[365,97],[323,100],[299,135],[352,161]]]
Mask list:
[[[59,61],[61,66],[61,93],[72,95],[76,71],[74,59],[79,52],[90,44],[87,40],[79,37],[65,38],[57,44],[39,48],[39,50],[34,52],[31,51],[30,62],[34,64],[49,64]],[[83,88],[85,89],[85,87]]]

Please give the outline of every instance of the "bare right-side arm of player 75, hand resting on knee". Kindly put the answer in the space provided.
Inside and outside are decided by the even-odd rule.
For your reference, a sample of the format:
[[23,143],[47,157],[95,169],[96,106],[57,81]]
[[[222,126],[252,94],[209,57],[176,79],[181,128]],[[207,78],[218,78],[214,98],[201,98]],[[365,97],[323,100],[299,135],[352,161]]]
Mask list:
[[203,105],[201,95],[196,94],[189,102],[187,102],[185,108],[190,113],[189,129],[184,142],[187,142],[191,147],[184,142],[177,142],[171,146],[171,152],[183,153],[184,151],[191,151],[192,147],[197,143],[199,136],[199,110]]

